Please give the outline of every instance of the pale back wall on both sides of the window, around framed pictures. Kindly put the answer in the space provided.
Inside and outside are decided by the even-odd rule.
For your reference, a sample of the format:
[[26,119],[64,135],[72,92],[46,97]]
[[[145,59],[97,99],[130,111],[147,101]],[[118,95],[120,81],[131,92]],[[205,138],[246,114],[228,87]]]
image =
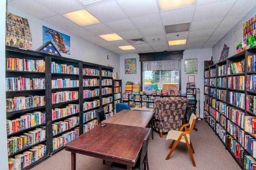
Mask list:
[[[183,59],[181,61],[181,91],[186,93],[186,85],[188,82],[188,75],[195,76],[196,88],[200,89],[200,117],[203,117],[204,111],[204,61],[211,60],[212,49],[196,49],[185,50],[183,52]],[[124,74],[124,59],[137,58],[137,74]],[[197,74],[185,74],[185,59],[197,59]],[[121,55],[120,56],[120,78],[122,79],[122,93],[124,93],[125,83],[127,81],[140,82],[140,59],[139,55]],[[140,84],[142,84],[140,82]],[[196,92],[196,98],[199,97],[199,91]],[[199,107],[198,107],[199,108]],[[196,111],[197,116],[198,111]]]

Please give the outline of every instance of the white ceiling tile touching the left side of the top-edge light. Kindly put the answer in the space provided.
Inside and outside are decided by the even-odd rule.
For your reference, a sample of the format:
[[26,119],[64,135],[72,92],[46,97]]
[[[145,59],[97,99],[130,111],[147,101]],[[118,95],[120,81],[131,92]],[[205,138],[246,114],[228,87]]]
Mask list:
[[129,17],[158,12],[156,0],[117,0],[117,3]]

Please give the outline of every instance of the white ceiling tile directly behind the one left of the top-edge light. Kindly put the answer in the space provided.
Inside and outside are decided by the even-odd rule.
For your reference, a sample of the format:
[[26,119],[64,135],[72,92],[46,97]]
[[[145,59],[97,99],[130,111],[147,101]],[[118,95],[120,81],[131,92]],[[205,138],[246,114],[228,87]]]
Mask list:
[[131,20],[138,29],[157,27],[162,25],[161,18],[158,13],[134,17],[131,18]]

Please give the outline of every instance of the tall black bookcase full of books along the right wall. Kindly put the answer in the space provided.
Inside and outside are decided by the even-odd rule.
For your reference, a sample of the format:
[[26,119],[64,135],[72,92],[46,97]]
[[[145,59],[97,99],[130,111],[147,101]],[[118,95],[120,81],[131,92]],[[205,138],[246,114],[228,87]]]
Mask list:
[[238,165],[256,162],[256,47],[204,69],[204,118]]

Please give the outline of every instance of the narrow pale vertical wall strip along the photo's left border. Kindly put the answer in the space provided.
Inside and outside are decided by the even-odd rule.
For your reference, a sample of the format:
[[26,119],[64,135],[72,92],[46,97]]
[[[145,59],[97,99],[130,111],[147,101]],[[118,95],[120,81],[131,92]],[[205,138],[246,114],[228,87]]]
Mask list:
[[[0,1],[0,82],[5,82],[5,6],[6,1]],[[0,165],[2,170],[8,170],[8,152],[7,152],[7,132],[6,132],[6,108],[5,84],[0,83],[0,108],[2,109],[0,118]]]

